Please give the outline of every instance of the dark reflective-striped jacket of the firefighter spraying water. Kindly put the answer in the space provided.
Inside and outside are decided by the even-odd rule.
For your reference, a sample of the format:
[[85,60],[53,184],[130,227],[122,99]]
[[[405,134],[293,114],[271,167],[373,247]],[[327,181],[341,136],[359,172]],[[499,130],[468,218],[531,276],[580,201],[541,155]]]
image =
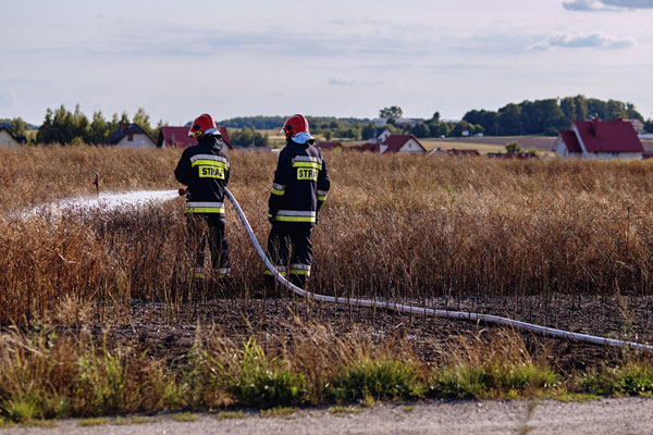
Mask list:
[[214,213],[224,217],[230,167],[220,141],[213,136],[200,137],[197,145],[184,150],[174,176],[188,186],[186,213]]

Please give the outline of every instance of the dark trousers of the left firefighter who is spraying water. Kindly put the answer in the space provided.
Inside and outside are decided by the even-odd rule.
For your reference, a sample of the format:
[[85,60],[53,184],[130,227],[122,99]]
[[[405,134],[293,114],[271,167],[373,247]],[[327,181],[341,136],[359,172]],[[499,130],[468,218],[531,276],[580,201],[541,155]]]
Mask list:
[[209,243],[211,265],[217,277],[230,273],[229,244],[224,237],[224,216],[219,214],[186,214],[190,247],[194,249],[196,275],[204,276],[205,250]]

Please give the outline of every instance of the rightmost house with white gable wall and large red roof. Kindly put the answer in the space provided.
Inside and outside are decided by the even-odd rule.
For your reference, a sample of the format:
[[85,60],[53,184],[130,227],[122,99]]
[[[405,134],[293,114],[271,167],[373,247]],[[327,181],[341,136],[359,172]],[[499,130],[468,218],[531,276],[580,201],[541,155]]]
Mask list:
[[560,132],[553,151],[564,159],[641,159],[644,148],[631,123],[593,119]]

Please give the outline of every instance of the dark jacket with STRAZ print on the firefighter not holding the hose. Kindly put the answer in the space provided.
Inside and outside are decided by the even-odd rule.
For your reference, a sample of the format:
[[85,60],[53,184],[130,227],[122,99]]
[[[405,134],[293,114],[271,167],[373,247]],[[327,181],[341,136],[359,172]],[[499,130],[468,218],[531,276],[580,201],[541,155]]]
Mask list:
[[279,154],[268,217],[315,225],[330,186],[320,151],[312,145],[288,141]]

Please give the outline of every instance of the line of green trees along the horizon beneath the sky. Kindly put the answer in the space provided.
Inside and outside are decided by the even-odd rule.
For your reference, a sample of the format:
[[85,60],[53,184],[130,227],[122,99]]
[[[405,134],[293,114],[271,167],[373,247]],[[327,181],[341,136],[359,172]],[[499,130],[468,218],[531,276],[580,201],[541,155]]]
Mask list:
[[[391,105],[379,111],[379,116],[386,124],[381,128],[390,128],[393,133],[414,134],[418,138],[426,137],[459,137],[465,135],[483,134],[486,136],[522,136],[549,135],[555,136],[560,129],[568,128],[576,120],[599,117],[600,120],[614,121],[617,117],[636,119],[644,123],[645,129],[653,133],[653,120],[644,117],[630,102],[609,99],[603,101],[596,98],[586,98],[582,95],[565,98],[550,98],[520,103],[508,103],[503,108],[492,110],[470,110],[460,121],[441,120],[435,112],[428,120],[403,120],[403,110],[398,105]],[[220,121],[218,124],[232,128],[230,138],[241,147],[269,146],[268,135],[260,129],[281,128],[287,116],[239,116]],[[323,137],[369,140],[374,137],[379,126],[369,119],[335,117],[335,116],[307,116],[311,133]],[[34,126],[25,123],[21,117],[0,120],[0,125],[5,125],[17,136],[28,136],[30,142],[38,144],[100,144],[111,134],[115,133],[123,123],[138,124],[152,139],[156,139],[161,126],[167,125],[159,121],[156,127],[150,125],[150,117],[143,108],[130,117],[126,112],[120,115],[114,113],[110,120],[101,111],[96,111],[88,119],[77,104],[74,111],[67,110],[63,104],[56,110],[46,111],[42,124],[38,127],[36,137],[26,133]]]

